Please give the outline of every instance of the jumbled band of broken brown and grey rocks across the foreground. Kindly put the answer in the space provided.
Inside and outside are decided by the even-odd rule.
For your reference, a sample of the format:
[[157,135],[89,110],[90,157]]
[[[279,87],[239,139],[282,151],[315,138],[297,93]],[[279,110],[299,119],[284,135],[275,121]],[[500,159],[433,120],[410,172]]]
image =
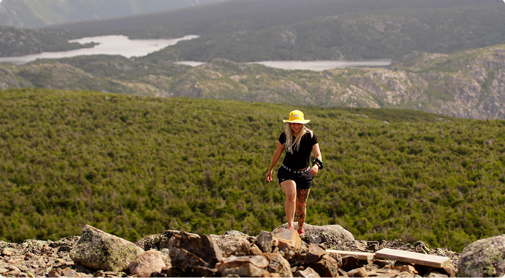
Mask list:
[[[447,277],[456,276],[460,254],[400,240],[356,240],[339,225],[306,224],[306,234],[284,228],[249,236],[195,235],[167,230],[135,243],[86,225],[81,236],[59,241],[0,242],[0,274],[6,277]],[[362,260],[327,250],[375,252],[383,248],[450,258],[443,268],[384,259]],[[365,254],[365,253],[364,253]]]

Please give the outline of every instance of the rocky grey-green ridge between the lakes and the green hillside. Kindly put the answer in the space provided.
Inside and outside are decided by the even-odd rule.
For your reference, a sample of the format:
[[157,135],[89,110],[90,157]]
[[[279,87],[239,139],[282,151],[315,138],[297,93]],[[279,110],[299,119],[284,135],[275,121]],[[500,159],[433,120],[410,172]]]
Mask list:
[[[91,58],[90,58],[91,59]],[[413,52],[389,69],[283,71],[216,58],[194,68],[111,59],[0,64],[0,88],[84,89],[156,97],[239,100],[318,107],[412,109],[505,119],[505,45],[453,55]],[[115,65],[121,64],[121,68]],[[143,66],[141,66],[143,65]],[[128,72],[128,78],[122,77]],[[177,74],[174,74],[177,72]],[[106,74],[107,76],[104,76]]]

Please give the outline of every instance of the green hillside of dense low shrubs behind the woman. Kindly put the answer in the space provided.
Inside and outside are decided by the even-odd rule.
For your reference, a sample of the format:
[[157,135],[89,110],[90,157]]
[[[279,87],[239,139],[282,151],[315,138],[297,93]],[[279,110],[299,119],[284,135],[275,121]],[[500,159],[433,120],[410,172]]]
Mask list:
[[503,121],[48,89],[0,103],[0,240],[272,230],[284,197],[265,173],[293,108],[325,161],[307,223],[457,252],[502,234]]

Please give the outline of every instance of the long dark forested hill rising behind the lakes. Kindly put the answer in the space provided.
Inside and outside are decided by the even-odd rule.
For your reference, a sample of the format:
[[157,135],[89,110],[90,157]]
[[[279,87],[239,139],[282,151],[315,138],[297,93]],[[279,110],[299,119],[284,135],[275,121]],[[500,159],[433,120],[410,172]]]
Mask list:
[[48,27],[74,36],[200,35],[159,52],[159,60],[401,59],[505,43],[504,12],[498,0],[235,0]]

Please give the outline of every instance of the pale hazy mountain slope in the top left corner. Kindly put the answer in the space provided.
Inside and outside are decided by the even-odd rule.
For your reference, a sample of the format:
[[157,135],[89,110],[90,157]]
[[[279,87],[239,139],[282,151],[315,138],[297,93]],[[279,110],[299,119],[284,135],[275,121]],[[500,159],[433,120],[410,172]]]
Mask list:
[[0,25],[37,28],[223,1],[229,0],[3,0],[0,2]]

